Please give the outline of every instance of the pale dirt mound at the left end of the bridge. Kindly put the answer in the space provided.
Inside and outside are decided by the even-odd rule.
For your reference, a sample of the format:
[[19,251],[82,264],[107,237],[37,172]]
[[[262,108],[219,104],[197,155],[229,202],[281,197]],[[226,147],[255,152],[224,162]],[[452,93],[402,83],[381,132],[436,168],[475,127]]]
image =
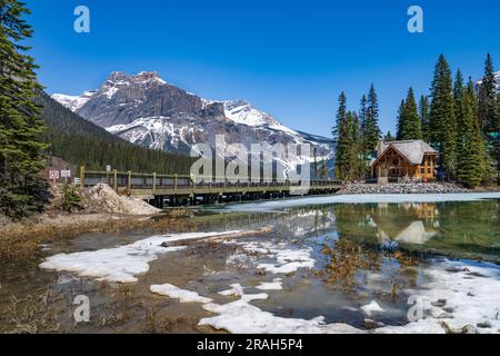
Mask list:
[[119,196],[104,184],[81,189],[79,194],[82,198],[81,205],[87,212],[152,215],[161,211],[139,198]]

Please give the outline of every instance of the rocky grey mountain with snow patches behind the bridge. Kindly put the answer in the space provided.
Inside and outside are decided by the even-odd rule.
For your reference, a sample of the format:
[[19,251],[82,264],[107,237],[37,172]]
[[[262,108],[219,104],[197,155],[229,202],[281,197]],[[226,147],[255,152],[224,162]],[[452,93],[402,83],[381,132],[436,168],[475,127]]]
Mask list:
[[[156,72],[112,72],[97,90],[53,99],[84,119],[143,147],[189,154],[196,144],[304,144],[332,159],[331,140],[292,130],[244,100],[217,101],[177,88]],[[312,161],[312,158],[311,158]],[[298,162],[283,162],[287,167]]]

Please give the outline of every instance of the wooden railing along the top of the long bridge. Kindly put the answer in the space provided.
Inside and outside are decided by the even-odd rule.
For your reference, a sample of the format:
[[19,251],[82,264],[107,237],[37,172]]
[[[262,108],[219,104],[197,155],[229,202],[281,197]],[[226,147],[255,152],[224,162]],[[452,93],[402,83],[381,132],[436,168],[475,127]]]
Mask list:
[[107,184],[116,191],[126,189],[131,190],[157,190],[173,189],[213,189],[213,188],[267,188],[267,187],[299,187],[308,185],[318,187],[338,187],[342,185],[340,180],[332,179],[309,179],[307,181],[290,181],[284,179],[260,179],[241,180],[236,177],[212,177],[212,176],[187,176],[187,175],[159,175],[140,174],[132,171],[98,171],[80,168],[80,185],[82,187],[92,187],[98,184]]

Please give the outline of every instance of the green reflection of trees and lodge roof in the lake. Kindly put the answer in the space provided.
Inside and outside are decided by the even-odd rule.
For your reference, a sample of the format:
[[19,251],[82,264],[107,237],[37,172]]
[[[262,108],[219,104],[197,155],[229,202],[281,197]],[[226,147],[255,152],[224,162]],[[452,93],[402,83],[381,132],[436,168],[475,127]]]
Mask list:
[[[500,254],[499,201],[334,205],[340,237],[408,249]],[[389,244],[388,244],[389,243]],[[419,246],[420,245],[420,246]]]

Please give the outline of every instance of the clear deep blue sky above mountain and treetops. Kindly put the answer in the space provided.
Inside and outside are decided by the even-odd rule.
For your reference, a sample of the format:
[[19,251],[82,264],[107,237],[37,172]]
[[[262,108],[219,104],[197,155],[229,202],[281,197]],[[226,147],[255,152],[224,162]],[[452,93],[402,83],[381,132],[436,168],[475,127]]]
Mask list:
[[[73,31],[90,9],[91,32]],[[409,33],[419,4],[424,32]],[[500,1],[28,0],[32,55],[50,93],[94,89],[113,70],[158,71],[209,99],[251,101],[284,125],[329,136],[341,90],[351,109],[374,83],[381,128],[393,131],[410,86],[428,92],[443,52],[480,78],[500,70]]]

